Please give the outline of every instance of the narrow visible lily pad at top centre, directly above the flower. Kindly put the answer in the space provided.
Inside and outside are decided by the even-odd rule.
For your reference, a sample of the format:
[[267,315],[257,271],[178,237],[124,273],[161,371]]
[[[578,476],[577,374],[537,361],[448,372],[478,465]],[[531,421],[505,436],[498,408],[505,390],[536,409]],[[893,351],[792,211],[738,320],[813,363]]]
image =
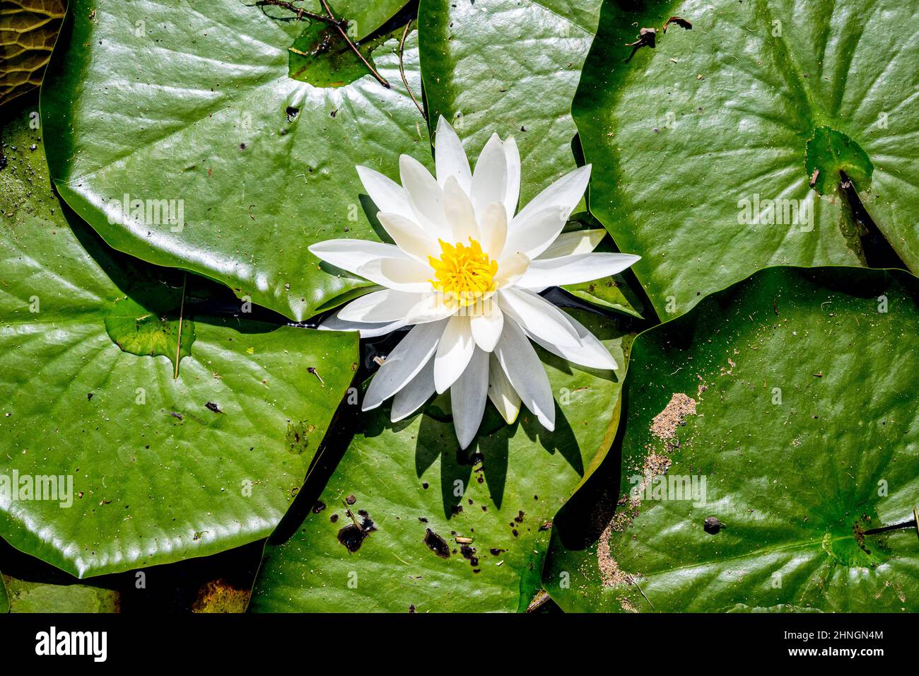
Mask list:
[[495,132],[514,136],[521,205],[575,168],[572,98],[599,7],[599,0],[421,0],[418,7],[431,134],[443,115],[471,157]]

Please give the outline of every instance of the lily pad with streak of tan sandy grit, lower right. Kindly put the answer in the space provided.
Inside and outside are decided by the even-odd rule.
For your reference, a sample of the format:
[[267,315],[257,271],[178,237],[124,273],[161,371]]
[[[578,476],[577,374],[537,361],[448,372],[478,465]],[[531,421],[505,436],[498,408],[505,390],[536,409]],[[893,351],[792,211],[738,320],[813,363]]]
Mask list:
[[552,598],[566,611],[915,612],[915,527],[868,531],[919,501],[917,294],[899,270],[766,269],[637,338],[619,476],[557,520]]

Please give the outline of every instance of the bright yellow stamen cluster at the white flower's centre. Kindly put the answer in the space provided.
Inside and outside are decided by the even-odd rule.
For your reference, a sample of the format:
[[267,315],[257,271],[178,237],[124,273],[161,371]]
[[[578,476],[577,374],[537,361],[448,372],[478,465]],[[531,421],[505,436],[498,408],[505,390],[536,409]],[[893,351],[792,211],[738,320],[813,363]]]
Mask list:
[[460,305],[467,306],[479,301],[482,296],[494,292],[494,275],[498,263],[482,251],[482,245],[471,237],[469,246],[457,243],[449,245],[442,239],[440,258],[427,257],[437,279],[428,280],[438,292],[455,298]]

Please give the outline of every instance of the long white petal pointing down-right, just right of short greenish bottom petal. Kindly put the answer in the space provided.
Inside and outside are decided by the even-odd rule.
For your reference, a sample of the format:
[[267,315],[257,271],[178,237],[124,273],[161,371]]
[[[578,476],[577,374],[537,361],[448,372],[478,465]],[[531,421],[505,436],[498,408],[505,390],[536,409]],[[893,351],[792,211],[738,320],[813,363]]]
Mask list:
[[549,376],[536,350],[520,327],[505,320],[505,330],[494,348],[494,356],[524,404],[547,430],[555,429],[555,401]]

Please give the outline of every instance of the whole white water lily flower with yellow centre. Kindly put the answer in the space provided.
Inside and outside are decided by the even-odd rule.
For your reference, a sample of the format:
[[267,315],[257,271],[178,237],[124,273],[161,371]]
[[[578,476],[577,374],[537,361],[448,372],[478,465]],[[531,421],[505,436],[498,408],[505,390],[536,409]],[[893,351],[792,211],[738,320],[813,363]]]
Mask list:
[[562,234],[590,165],[515,213],[520,155],[513,137],[502,142],[494,134],[474,172],[443,118],[436,143],[436,179],[408,155],[399,161],[402,186],[357,167],[395,245],[334,239],[310,246],[324,261],[384,287],[346,304],[322,328],[372,337],[413,327],[369,384],[364,410],[393,396],[396,422],[449,389],[462,448],[479,429],[486,398],[508,423],[522,402],[553,430],[549,378],[530,340],[577,364],[617,365],[593,334],[539,292],[616,274],[640,257],[592,253],[603,230]]

